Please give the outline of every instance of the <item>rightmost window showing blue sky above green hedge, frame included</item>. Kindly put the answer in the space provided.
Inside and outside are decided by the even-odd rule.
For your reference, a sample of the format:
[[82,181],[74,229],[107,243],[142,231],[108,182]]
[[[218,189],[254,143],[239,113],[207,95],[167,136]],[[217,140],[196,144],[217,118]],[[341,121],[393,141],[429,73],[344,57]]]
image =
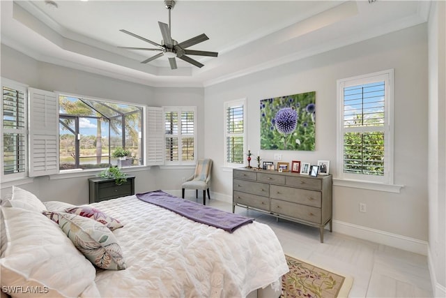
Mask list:
[[393,70],[338,80],[339,179],[393,184]]

